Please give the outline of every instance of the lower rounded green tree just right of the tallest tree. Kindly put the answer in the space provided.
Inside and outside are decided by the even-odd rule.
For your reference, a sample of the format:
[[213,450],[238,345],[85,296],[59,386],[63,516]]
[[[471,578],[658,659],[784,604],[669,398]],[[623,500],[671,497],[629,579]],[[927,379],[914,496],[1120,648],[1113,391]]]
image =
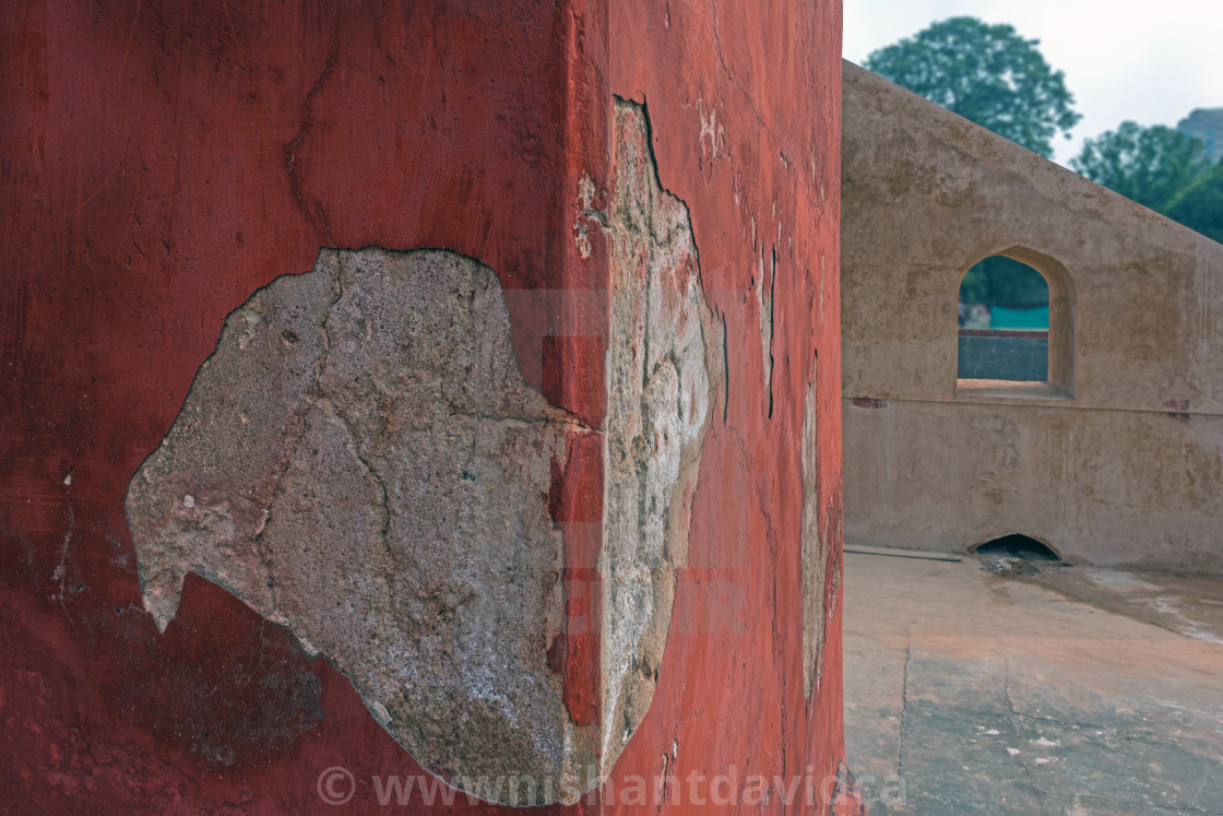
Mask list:
[[1178,130],[1126,121],[1115,131],[1087,139],[1070,166],[1163,213],[1181,191],[1210,172],[1211,158],[1206,146]]

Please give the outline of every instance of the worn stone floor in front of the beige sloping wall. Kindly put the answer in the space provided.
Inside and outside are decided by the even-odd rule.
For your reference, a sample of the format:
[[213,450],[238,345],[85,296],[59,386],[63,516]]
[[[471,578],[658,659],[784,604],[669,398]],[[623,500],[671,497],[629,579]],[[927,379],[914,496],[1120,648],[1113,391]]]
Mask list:
[[[1163,614],[1161,577],[1070,580],[1091,576]],[[1046,580],[846,555],[846,754],[868,812],[1223,812],[1221,581],[1177,595],[1213,620],[1186,637]]]

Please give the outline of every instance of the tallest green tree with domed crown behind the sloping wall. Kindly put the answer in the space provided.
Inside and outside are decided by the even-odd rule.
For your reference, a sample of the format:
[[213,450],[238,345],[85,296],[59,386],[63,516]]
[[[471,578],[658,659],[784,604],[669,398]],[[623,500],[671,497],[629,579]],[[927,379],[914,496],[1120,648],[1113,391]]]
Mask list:
[[951,17],[872,53],[865,67],[1048,158],[1051,139],[1081,116],[1038,44],[1013,26]]

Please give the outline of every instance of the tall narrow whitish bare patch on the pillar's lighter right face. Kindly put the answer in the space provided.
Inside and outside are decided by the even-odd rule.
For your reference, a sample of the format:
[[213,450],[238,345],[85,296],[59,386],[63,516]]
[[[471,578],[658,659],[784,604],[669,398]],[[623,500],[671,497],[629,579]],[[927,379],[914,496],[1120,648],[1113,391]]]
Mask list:
[[[603,504],[603,740],[610,770],[654,694],[687,564],[692,492],[720,369],[687,208],[658,186],[648,122],[618,100]],[[720,349],[718,349],[720,351]]]

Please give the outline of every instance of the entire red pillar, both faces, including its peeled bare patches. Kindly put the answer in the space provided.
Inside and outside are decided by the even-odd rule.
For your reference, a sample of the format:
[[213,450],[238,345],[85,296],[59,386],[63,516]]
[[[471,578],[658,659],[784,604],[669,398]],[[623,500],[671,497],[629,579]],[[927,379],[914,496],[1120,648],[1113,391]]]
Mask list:
[[[417,810],[523,804],[494,792],[497,779],[470,795],[470,781],[454,776],[499,739],[446,739],[464,711],[454,700],[477,697],[547,711],[550,735],[538,740],[530,718],[508,725],[514,739],[497,772],[538,772],[515,757],[547,766],[575,756],[564,734],[598,735],[598,747],[580,746],[596,757],[593,777],[527,800],[553,810],[631,812],[654,799],[680,809],[729,792],[779,811],[845,783],[839,4],[778,0],[744,20],[720,2],[33,2],[0,28],[10,157],[0,197],[10,270],[0,295],[10,383],[0,393],[0,801],[285,812],[349,794],[363,811],[396,777],[418,788],[400,787],[393,801]],[[651,184],[616,175],[629,139]],[[634,251],[616,250],[636,246],[616,242],[618,229],[637,223],[613,213],[626,187],[630,203],[663,204],[646,219],[662,232],[652,226],[638,243],[681,250],[647,264],[665,272],[656,289],[698,284],[700,332],[662,321],[675,346],[663,356],[679,361],[700,336],[708,378],[707,404],[685,400],[686,369],[668,363],[689,411],[648,426],[680,434],[674,459],[646,460],[647,470],[674,461],[674,475],[668,465],[646,486],[663,486],[690,524],[642,536],[662,547],[662,569],[646,580],[667,614],[641,620],[604,619],[627,608],[616,587],[635,586],[624,570],[603,575],[625,563],[607,546],[608,491],[635,489],[616,482],[607,443],[616,394],[635,394],[615,390],[610,351],[634,336],[618,335],[631,322],[616,323],[614,307],[616,270],[640,272],[625,261]],[[345,263],[355,272],[339,272]],[[406,292],[386,289],[428,274],[435,280]],[[285,297],[290,289],[298,295]],[[411,308],[413,291],[476,294],[454,307],[453,330],[433,301],[400,336],[396,312]],[[439,357],[442,368],[484,366],[467,378],[446,369],[454,402],[426,399],[412,414],[372,396],[408,400],[413,383],[432,382],[432,363],[388,365],[430,339],[472,355]],[[234,363],[259,349],[262,362]],[[395,377],[404,382],[385,384]],[[285,401],[290,391],[296,401]],[[278,414],[298,404],[308,409]],[[448,404],[471,415],[424,422]],[[192,437],[196,417],[210,414],[229,436]],[[292,426],[309,443],[263,451],[279,482],[259,470],[263,453],[243,448],[254,444],[243,436],[251,422]],[[462,489],[486,478],[514,488],[516,498],[492,502],[538,531],[521,558],[477,558],[467,571],[470,553],[445,560],[448,536],[500,522],[487,508],[453,530],[430,519],[433,549],[362,549],[411,527],[411,511],[396,517],[396,508],[427,503],[428,492],[395,494],[412,467],[383,461],[413,422],[417,439],[437,440],[443,426],[478,437],[478,466],[442,445],[433,476],[454,466]],[[504,438],[472,431],[482,422]],[[175,433],[188,442],[153,455]],[[132,481],[142,469],[147,500],[130,493],[146,484]],[[208,492],[177,489],[201,475]],[[230,482],[247,475],[254,498],[243,499]],[[455,488],[429,478],[421,470],[406,482],[454,499]],[[230,522],[249,527],[246,549]],[[682,547],[671,543],[680,533]],[[362,547],[312,554],[309,538],[328,535]],[[141,536],[161,543],[138,547]],[[361,569],[367,558],[377,569]],[[497,569],[525,571],[503,585]],[[412,606],[396,617],[385,604],[405,597],[391,591],[404,575],[430,582],[399,587]],[[456,586],[465,592],[446,595]],[[528,666],[523,677],[538,684],[500,688],[495,670],[483,683],[471,669],[479,648],[451,648],[475,644],[460,607],[478,586],[493,610],[486,626],[534,592],[504,630],[509,645],[489,653],[512,651],[504,659]],[[347,612],[324,608],[336,598]],[[353,609],[373,621],[357,634],[346,629]],[[395,637],[423,631],[427,612],[455,609],[434,628],[451,637],[448,650],[412,672],[462,677],[430,689],[442,703],[413,710],[386,678],[401,677],[391,658],[422,641]],[[630,636],[609,636],[613,620]],[[374,664],[379,656],[390,668]],[[629,691],[614,694],[609,678]],[[719,776],[733,782],[715,792]],[[759,795],[752,776],[794,793],[747,801]],[[638,779],[645,801],[627,795]]]

